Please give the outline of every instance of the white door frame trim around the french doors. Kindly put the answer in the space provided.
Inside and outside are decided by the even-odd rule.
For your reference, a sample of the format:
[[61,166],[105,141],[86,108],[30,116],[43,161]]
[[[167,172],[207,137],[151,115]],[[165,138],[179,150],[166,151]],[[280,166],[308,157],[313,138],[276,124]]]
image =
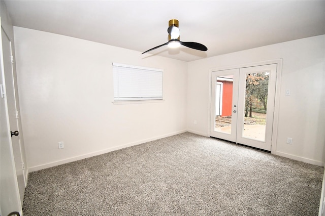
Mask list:
[[277,140],[278,122],[279,122],[281,76],[282,76],[282,59],[275,59],[275,60],[261,61],[261,62],[252,62],[252,63],[247,63],[247,64],[239,64],[239,65],[225,66],[225,67],[217,67],[217,68],[212,68],[209,70],[209,100],[208,100],[209,111],[208,111],[208,118],[207,118],[207,119],[209,119],[209,126],[208,126],[208,131],[207,131],[207,134],[209,136],[211,135],[211,121],[210,121],[210,119],[211,119],[211,112],[212,112],[212,109],[211,109],[212,72],[220,71],[220,70],[231,70],[231,69],[237,69],[237,68],[244,68],[244,67],[269,65],[269,64],[277,64],[271,153],[276,152],[276,140]]

